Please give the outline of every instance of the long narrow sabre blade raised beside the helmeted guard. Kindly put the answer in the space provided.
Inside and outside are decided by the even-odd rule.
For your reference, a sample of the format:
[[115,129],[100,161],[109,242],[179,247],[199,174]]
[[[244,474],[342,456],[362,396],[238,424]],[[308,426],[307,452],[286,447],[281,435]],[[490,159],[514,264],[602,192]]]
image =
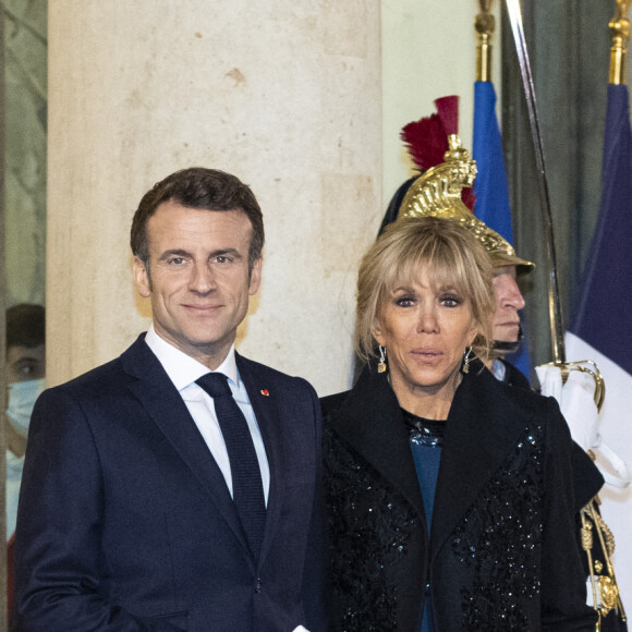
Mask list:
[[548,181],[544,161],[544,149],[542,143],[542,133],[539,131],[539,121],[537,116],[537,105],[535,101],[535,89],[533,85],[533,75],[524,39],[522,27],[522,13],[520,10],[520,0],[507,0],[507,11],[513,33],[515,51],[522,75],[526,108],[528,111],[528,122],[531,124],[531,137],[535,149],[535,161],[538,172],[538,192],[540,209],[543,215],[545,243],[548,263],[548,311],[550,320],[550,336],[554,358],[556,364],[566,363],[564,348],[564,326],[562,319],[562,307],[557,276],[557,258],[555,250],[555,239],[552,230],[552,217],[550,210],[550,200],[548,193]]

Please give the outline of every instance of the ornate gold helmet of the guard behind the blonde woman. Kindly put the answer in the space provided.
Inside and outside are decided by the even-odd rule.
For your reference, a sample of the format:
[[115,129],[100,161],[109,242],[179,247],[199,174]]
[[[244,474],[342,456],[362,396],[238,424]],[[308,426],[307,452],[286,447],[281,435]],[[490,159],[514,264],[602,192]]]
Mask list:
[[518,275],[525,275],[535,264],[522,259],[513,246],[463,204],[461,191],[471,187],[476,178],[476,162],[461,146],[457,134],[448,136],[448,151],[443,162],[416,178],[401,203],[398,219],[404,217],[440,217],[458,221],[483,244],[495,268],[515,266]]

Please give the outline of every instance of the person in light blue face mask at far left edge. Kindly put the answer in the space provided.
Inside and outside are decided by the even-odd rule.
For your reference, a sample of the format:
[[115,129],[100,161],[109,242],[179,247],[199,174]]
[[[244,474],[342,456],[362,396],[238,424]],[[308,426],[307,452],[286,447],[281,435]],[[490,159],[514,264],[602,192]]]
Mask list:
[[7,539],[15,531],[28,424],[45,387],[45,308],[20,304],[7,309]]

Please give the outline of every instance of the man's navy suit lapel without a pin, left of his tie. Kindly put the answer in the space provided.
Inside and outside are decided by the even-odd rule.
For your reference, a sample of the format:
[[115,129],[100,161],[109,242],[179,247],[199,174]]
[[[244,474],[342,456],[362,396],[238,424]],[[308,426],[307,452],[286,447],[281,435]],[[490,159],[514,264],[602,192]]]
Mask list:
[[129,388],[208,491],[230,528],[248,552],[247,543],[223,475],[186,404],[142,335],[121,356],[123,369],[136,378]]

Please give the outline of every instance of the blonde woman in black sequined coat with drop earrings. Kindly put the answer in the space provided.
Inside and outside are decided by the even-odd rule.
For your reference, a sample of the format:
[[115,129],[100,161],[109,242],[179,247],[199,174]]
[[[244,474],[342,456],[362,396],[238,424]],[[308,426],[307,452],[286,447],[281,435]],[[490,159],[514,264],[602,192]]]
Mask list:
[[571,437],[552,399],[484,369],[494,308],[457,222],[400,220],[362,259],[369,363],[323,400],[331,630],[595,629]]

